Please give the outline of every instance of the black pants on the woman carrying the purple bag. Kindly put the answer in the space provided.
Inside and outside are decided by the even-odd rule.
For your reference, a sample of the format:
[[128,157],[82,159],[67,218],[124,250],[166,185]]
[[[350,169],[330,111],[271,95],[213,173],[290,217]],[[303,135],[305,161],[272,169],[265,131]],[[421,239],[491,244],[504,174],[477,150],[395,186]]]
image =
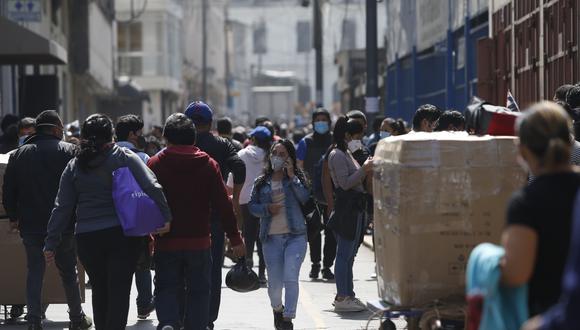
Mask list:
[[97,330],[122,330],[127,326],[140,240],[126,237],[121,227],[77,235],[78,255],[93,288]]

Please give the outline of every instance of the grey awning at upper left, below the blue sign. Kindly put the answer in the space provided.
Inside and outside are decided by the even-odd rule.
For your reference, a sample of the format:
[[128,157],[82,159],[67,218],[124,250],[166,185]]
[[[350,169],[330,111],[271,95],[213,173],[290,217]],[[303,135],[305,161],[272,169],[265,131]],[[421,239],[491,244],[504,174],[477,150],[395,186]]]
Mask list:
[[0,65],[66,63],[61,45],[0,16]]

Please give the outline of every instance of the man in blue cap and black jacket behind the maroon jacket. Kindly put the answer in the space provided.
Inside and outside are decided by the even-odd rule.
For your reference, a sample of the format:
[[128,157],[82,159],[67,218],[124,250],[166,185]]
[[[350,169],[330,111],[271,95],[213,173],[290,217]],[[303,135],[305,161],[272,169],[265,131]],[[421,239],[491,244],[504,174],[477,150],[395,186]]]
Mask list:
[[[240,215],[240,192],[246,180],[246,165],[240,159],[234,145],[219,136],[211,133],[213,122],[213,110],[203,102],[193,102],[187,106],[185,115],[189,117],[197,128],[196,146],[213,158],[221,169],[222,178],[227,178],[231,172],[234,177],[233,204],[237,215]],[[203,186],[199,186],[203,187]],[[222,288],[222,260],[224,254],[224,235],[218,214],[212,214],[211,221],[211,247],[212,247],[212,290],[211,305],[208,327],[213,329],[213,324],[218,318]]]

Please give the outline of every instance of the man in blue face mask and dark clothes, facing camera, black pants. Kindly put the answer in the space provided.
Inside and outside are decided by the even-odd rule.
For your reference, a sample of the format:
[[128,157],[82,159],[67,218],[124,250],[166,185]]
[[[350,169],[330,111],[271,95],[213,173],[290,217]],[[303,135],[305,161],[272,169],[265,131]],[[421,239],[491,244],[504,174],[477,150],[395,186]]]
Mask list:
[[[310,179],[320,180],[321,171],[317,168],[321,165],[320,160],[328,151],[332,144],[332,134],[330,127],[332,125],[330,113],[326,109],[317,109],[312,113],[312,126],[314,133],[308,134],[298,143],[296,150],[296,159],[298,160],[298,167],[305,170]],[[320,223],[326,224],[328,217],[326,216],[326,200],[321,189],[316,191],[314,186],[314,198],[321,206],[321,213],[317,211],[312,215],[312,221],[308,221],[308,243],[310,245],[310,261],[312,267],[310,269],[310,278],[317,279],[320,273],[321,261],[321,245],[322,235],[320,233]],[[320,187],[321,188],[321,187]],[[314,221],[318,219],[318,221]],[[325,228],[324,230],[324,260],[322,268],[322,278],[325,280],[333,280],[334,274],[330,270],[336,258],[336,239],[332,230]]]

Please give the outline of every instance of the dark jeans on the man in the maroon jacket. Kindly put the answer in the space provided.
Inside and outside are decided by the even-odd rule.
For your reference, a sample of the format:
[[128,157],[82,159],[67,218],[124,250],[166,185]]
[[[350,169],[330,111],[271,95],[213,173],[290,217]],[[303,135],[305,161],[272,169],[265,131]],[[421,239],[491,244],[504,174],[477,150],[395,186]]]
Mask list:
[[[205,330],[209,322],[211,251],[155,252],[155,307],[158,329]],[[185,289],[184,289],[185,284]],[[185,292],[184,292],[185,291]],[[182,297],[185,315],[180,316]]]

